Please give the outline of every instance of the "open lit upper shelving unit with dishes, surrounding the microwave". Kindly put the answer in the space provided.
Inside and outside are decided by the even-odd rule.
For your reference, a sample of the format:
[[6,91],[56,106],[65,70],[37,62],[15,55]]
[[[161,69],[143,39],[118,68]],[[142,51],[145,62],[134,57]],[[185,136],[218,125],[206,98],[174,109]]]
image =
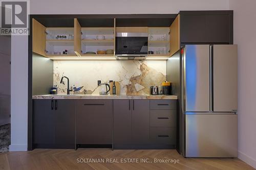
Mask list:
[[[179,50],[179,15],[171,26],[168,23],[172,23],[172,19],[165,18],[162,18],[164,22],[158,19],[142,22],[139,18],[37,19],[32,19],[33,52],[52,60],[115,60],[115,35],[118,31],[147,32],[148,51],[153,52],[147,59],[166,60]],[[174,50],[171,52],[171,49]],[[65,50],[68,54],[63,54]],[[113,50],[114,53],[97,54],[99,50]]]

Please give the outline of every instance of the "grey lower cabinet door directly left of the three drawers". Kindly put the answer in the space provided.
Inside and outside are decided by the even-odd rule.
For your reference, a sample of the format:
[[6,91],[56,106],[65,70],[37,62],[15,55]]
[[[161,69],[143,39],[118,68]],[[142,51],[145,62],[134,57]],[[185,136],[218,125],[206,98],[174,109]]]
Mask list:
[[150,100],[133,100],[132,143],[146,144],[150,141]]

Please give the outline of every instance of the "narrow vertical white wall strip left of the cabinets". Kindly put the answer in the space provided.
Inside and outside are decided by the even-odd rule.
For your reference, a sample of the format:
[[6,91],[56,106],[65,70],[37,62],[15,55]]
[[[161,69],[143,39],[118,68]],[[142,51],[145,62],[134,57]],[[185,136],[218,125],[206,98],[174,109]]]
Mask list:
[[28,37],[11,40],[11,145],[10,151],[28,146]]

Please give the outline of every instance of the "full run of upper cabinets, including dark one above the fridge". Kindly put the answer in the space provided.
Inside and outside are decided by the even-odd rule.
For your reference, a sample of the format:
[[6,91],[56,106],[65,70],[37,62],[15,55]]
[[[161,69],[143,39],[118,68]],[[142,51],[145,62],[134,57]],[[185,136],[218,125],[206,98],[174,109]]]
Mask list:
[[77,17],[33,18],[33,52],[53,60],[115,60],[118,33],[146,33],[147,58],[153,60],[172,57],[184,44],[233,43],[233,11]]

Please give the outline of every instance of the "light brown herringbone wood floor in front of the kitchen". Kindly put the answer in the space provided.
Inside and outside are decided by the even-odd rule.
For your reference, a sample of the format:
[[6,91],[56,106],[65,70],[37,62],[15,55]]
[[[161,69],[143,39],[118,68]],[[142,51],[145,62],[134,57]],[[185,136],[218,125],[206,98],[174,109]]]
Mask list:
[[[179,159],[179,163],[76,163],[77,158]],[[239,159],[184,158],[176,150],[36,149],[0,154],[0,169],[254,169]]]

